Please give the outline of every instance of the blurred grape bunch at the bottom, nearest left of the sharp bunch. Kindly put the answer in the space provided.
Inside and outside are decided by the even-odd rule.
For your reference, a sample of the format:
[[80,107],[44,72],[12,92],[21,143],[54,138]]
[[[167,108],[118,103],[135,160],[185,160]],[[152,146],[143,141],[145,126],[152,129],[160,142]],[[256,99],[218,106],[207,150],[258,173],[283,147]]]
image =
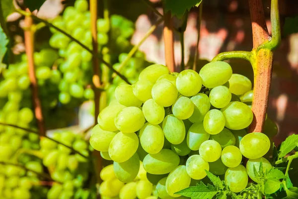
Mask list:
[[48,168],[56,183],[47,193],[47,199],[88,198],[90,190],[84,190],[89,179],[91,166],[89,145],[80,135],[70,131],[56,132],[53,139],[72,147],[82,155],[74,153],[71,148],[57,144],[48,138],[40,141],[43,165]]

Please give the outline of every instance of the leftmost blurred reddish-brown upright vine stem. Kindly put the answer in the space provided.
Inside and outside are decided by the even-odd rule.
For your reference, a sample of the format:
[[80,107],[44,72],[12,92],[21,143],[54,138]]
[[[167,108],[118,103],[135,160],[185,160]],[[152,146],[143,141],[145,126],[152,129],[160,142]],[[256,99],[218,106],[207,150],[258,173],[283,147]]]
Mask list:
[[[29,13],[30,10],[27,8],[26,13]],[[42,114],[41,102],[38,97],[38,85],[35,76],[35,66],[34,66],[34,32],[32,30],[33,20],[30,15],[25,16],[25,28],[24,28],[24,40],[25,40],[25,48],[26,55],[28,60],[28,74],[31,83],[31,91],[32,91],[32,100],[34,105],[35,117],[37,120],[37,126],[39,129],[39,133],[41,136],[46,134],[46,129],[44,125],[44,118]]]

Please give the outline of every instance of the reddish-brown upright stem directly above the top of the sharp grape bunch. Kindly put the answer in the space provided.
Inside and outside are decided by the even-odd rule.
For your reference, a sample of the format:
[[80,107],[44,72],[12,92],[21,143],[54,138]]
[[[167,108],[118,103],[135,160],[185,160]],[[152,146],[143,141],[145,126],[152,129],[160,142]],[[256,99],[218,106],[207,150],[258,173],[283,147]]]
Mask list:
[[171,12],[164,13],[163,27],[165,65],[170,72],[175,72],[175,57],[174,57],[174,32]]

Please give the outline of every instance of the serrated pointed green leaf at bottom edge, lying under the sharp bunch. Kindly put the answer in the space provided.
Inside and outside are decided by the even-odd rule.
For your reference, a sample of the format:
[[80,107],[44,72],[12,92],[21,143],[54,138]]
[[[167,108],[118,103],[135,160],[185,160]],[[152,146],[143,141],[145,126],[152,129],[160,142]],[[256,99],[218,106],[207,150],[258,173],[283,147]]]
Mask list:
[[176,194],[180,194],[191,199],[212,199],[218,193],[219,191],[217,191],[217,189],[215,189],[212,185],[208,184],[206,186],[203,182],[201,182],[201,184],[196,187],[186,188]]

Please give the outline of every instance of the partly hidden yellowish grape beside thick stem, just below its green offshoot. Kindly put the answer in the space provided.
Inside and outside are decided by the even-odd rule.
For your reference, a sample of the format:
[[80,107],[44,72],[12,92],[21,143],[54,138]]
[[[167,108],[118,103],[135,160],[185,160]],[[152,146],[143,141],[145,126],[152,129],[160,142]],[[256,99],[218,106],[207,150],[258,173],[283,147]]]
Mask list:
[[243,95],[251,90],[251,81],[240,74],[232,74],[231,78],[228,80],[229,90],[235,95]]

